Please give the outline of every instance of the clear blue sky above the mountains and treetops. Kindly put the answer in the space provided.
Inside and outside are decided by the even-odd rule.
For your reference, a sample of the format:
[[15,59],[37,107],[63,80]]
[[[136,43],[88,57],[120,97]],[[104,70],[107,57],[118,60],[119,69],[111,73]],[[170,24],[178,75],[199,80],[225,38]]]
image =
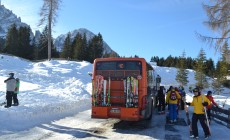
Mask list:
[[[203,24],[207,19],[204,0],[63,0],[53,36],[86,28],[99,32],[120,56],[196,58],[201,48],[206,57],[220,57],[195,32],[213,35]],[[2,0],[32,30],[37,27],[42,0]]]

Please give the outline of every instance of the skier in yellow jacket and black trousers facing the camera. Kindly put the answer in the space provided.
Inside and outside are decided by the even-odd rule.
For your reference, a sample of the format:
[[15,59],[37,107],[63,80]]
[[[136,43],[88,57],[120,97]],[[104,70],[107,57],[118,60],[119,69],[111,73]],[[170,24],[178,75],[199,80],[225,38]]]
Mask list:
[[190,137],[192,138],[199,138],[198,137],[198,128],[197,128],[197,122],[200,121],[200,124],[203,128],[205,139],[207,139],[210,136],[208,125],[205,123],[205,112],[204,107],[210,105],[209,99],[205,95],[201,95],[198,88],[193,89],[193,100],[191,103],[186,102],[186,105],[194,106],[194,113],[192,116],[192,131],[193,135]]

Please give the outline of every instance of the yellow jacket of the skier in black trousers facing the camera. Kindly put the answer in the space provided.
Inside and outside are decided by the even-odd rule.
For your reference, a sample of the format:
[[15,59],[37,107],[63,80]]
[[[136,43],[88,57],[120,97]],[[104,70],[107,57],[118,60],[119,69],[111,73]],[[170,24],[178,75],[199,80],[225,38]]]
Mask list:
[[190,105],[194,106],[194,113],[195,114],[204,114],[205,113],[204,112],[204,106],[202,104],[202,101],[203,101],[202,98],[204,99],[204,102],[208,103],[208,105],[211,104],[209,99],[205,95],[200,94],[197,96],[193,96],[193,100],[192,100]]

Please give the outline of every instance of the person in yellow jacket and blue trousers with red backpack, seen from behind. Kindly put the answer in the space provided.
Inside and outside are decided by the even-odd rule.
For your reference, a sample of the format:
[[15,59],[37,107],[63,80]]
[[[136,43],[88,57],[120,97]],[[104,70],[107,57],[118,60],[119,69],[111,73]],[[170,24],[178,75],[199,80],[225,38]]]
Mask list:
[[169,121],[170,123],[177,121],[177,102],[180,99],[180,94],[175,90],[174,87],[167,93],[166,104],[169,108]]

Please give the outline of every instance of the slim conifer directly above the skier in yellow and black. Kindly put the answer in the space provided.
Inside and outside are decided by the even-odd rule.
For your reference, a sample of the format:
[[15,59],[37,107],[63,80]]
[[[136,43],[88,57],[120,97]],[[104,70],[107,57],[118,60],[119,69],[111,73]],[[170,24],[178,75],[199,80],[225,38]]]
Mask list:
[[201,89],[207,88],[208,82],[205,75],[205,69],[206,69],[206,56],[203,48],[201,48],[199,55],[196,59],[196,73],[195,73],[195,79],[197,80],[196,86],[200,87]]

